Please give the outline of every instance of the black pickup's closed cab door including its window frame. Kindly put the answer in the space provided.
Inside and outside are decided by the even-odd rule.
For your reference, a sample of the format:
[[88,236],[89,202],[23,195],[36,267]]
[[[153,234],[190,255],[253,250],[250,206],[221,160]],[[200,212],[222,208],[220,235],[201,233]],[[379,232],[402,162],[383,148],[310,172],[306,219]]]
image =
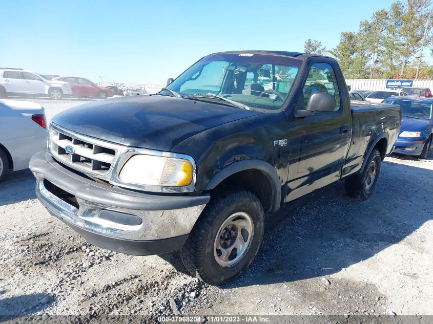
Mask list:
[[[290,128],[290,167],[288,195],[290,201],[317,188],[337,181],[350,140],[350,107],[341,101],[344,79],[337,78],[332,62],[315,61],[304,81],[298,105],[306,107],[313,93],[332,94],[336,100],[332,112],[314,112],[312,116],[293,117]],[[337,82],[341,81],[341,84]]]

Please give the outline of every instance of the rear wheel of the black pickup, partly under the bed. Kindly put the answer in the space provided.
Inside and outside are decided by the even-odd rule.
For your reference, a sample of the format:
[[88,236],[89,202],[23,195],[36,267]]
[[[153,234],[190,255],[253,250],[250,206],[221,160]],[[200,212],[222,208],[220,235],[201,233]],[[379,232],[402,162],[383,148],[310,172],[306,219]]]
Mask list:
[[[360,174],[346,178],[344,185],[347,196],[356,198],[359,201],[365,201],[372,196],[379,178],[381,161],[379,150],[374,149],[368,157],[364,170]],[[374,171],[372,170],[373,164]],[[373,180],[372,174],[374,174]]]

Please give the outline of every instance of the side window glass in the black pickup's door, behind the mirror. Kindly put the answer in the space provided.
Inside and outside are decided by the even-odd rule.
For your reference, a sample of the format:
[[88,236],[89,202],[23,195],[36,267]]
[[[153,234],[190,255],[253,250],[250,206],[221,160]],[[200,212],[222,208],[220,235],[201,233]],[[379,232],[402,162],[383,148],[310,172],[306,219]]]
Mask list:
[[325,92],[335,97],[335,111],[340,109],[340,91],[338,89],[337,78],[332,66],[328,63],[314,63],[308,72],[308,77],[303,88],[304,104],[313,93]]

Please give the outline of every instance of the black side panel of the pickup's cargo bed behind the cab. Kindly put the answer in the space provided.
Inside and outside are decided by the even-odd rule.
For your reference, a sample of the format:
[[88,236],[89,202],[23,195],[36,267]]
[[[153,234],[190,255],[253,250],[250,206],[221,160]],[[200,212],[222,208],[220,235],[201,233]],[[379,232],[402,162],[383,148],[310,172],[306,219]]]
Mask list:
[[396,104],[383,104],[365,101],[350,101],[352,111],[352,142],[343,167],[342,177],[358,171],[364,157],[369,154],[373,141],[381,134],[387,139],[382,157],[389,155],[398,137],[401,124],[401,109]]

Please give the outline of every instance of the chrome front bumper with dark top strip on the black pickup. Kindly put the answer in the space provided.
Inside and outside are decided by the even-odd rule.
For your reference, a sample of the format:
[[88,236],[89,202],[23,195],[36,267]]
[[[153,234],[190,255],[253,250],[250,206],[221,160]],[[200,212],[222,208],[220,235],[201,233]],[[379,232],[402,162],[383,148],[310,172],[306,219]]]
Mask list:
[[[104,241],[104,237],[109,241],[120,240],[120,243],[125,243],[123,245],[131,243],[130,241],[155,243],[175,237],[186,239],[210,199],[209,195],[147,195],[98,184],[64,168],[45,152],[32,157],[30,169],[36,177],[36,195],[48,211],[86,239],[87,234],[92,237],[97,235],[98,242]],[[61,195],[55,195],[52,187],[70,194],[74,203],[62,199]],[[112,248],[111,245],[95,244],[129,253],[128,250]],[[177,246],[177,249],[180,247],[181,245]],[[168,250],[173,250],[173,247],[168,247]],[[163,249],[162,252],[154,252],[135,251],[129,254],[166,251]]]

